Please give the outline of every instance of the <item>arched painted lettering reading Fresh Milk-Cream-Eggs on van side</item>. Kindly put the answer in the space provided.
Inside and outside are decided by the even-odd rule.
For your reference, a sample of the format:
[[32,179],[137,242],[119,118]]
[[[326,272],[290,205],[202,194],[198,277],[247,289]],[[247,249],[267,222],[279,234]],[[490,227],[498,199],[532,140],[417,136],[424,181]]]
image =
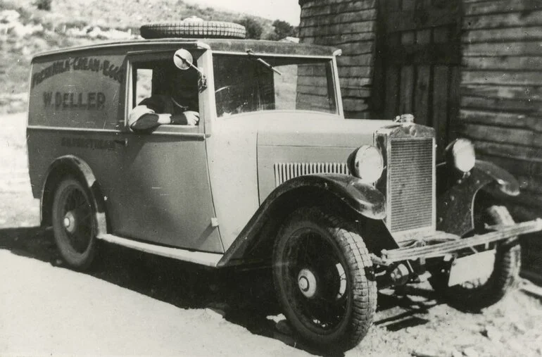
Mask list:
[[47,78],[73,70],[88,70],[94,73],[101,73],[101,75],[119,83],[122,83],[125,77],[125,67],[122,65],[115,65],[109,60],[103,60],[102,62],[99,58],[75,57],[53,62],[39,72],[33,73],[32,88]]

